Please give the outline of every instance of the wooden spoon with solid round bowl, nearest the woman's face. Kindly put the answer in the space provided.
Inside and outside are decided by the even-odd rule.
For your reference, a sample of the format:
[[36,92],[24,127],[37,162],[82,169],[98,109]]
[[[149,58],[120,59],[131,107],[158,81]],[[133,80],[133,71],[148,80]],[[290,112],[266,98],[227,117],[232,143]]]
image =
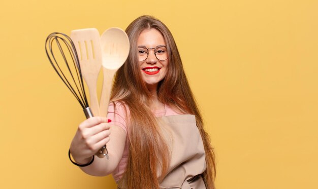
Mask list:
[[100,112],[101,116],[106,117],[114,74],[126,61],[130,50],[130,43],[124,30],[112,27],[102,34],[101,47],[104,79],[100,100]]

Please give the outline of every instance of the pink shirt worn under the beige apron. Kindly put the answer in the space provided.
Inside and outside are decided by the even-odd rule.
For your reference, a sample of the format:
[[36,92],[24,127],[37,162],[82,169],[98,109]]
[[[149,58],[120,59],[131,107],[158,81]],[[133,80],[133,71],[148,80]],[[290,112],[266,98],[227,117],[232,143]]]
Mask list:
[[[127,108],[127,115],[125,111],[125,105],[122,103],[116,103],[116,112],[114,111],[114,105],[113,103],[109,104],[108,107],[108,119],[110,119],[112,122],[109,123],[109,125],[116,125],[121,127],[127,134],[127,122],[129,119],[129,109]],[[179,115],[175,110],[173,110],[170,106],[165,105],[165,109],[157,109],[152,111],[155,117],[162,117],[162,116],[173,116],[173,115]],[[128,135],[127,135],[128,136]],[[122,174],[125,171],[125,168],[127,166],[127,161],[128,161],[128,154],[129,154],[129,149],[128,149],[128,138],[126,139],[125,147],[123,150],[122,158],[119,161],[119,164],[117,168],[114,170],[113,177],[116,182],[122,177]]]

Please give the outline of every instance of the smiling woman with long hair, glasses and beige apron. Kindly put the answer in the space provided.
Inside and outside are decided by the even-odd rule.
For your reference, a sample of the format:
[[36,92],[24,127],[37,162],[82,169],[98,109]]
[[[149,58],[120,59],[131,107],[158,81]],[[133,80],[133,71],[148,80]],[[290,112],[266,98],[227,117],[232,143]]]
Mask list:
[[126,33],[131,52],[115,75],[111,122],[94,117],[79,125],[74,160],[91,162],[107,143],[109,160],[96,158],[84,172],[112,173],[119,188],[214,188],[213,150],[172,34],[151,16]]

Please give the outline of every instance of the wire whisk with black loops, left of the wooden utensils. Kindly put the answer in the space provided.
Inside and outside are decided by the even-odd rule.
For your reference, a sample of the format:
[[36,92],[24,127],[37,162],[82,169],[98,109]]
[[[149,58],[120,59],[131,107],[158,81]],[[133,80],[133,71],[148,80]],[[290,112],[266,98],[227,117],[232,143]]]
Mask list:
[[[46,39],[45,51],[59,78],[82,106],[86,118],[93,117],[85,94],[78,54],[71,38],[64,33],[51,33]],[[108,159],[106,145],[96,155],[100,158],[106,156]]]

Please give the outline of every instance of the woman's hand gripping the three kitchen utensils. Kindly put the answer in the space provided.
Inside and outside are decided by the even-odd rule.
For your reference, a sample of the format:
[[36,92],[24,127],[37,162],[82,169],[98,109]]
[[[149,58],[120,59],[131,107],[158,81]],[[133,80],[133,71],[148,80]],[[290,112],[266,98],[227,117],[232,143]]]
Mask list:
[[71,143],[71,154],[79,164],[86,164],[109,141],[110,120],[92,117],[82,122]]

